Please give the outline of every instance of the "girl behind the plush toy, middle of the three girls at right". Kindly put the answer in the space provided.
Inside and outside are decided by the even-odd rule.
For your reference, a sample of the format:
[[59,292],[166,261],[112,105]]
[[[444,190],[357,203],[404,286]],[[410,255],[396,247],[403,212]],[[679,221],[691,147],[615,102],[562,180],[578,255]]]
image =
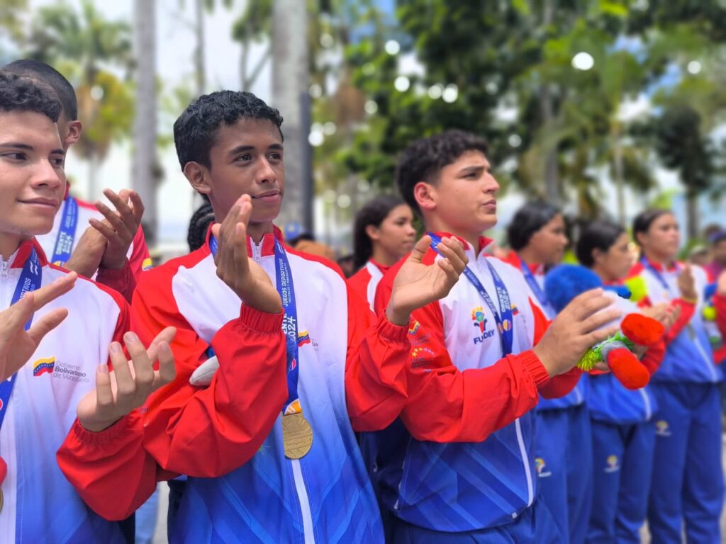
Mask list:
[[[619,225],[594,221],[584,226],[576,244],[579,263],[594,271],[605,285],[623,281],[633,265],[630,239]],[[635,303],[619,299],[627,313],[640,313]],[[648,308],[664,326],[673,324],[676,312],[668,304]],[[648,313],[645,311],[644,313]],[[665,344],[651,347],[643,358],[650,374],[663,359]],[[640,543],[653,469],[658,410],[650,387],[632,391],[613,374],[590,376],[587,396],[592,421],[592,497],[587,543]]]

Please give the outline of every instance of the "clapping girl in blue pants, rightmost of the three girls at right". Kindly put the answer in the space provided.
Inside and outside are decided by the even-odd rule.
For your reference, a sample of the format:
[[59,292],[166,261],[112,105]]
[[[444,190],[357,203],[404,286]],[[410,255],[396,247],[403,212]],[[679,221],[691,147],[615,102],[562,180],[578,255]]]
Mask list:
[[702,316],[708,275],[701,267],[676,260],[680,230],[670,210],[637,215],[633,236],[642,255],[627,284],[640,284],[638,302],[669,302],[680,308],[678,320],[666,333],[666,355],[649,386],[658,401],[648,503],[651,539],[680,543],[685,525],[688,542],[717,543],[724,495],[719,397],[723,374],[714,364]]

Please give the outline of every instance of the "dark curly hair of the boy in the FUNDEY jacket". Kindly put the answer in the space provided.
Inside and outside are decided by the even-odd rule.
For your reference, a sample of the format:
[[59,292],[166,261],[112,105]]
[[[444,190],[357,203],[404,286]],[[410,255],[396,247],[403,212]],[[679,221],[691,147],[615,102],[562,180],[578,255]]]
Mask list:
[[404,149],[396,168],[396,184],[401,196],[415,213],[421,213],[413,194],[416,184],[420,181],[435,183],[442,168],[468,151],[486,155],[489,145],[475,134],[454,130],[418,139]]

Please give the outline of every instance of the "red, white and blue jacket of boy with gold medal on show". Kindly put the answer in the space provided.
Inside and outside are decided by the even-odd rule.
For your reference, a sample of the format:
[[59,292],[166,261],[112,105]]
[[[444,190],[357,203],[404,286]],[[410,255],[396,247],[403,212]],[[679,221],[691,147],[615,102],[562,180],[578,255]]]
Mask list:
[[[248,239],[248,255],[274,283],[273,236],[280,238],[280,231],[264,236],[260,244]],[[152,395],[142,411],[104,432],[89,433],[76,424],[59,452],[62,470],[91,508],[109,519],[123,519],[152,493],[157,479],[181,473],[192,477],[188,490],[209,482],[206,478],[210,477],[221,477],[219,482],[213,480],[218,482],[213,489],[231,489],[231,495],[225,496],[232,503],[223,508],[213,504],[219,495],[211,497],[204,491],[184,495],[200,501],[190,508],[209,514],[199,524],[177,517],[182,524],[177,534],[196,542],[210,539],[206,531],[221,524],[235,527],[242,536],[252,530],[241,514],[224,522],[216,519],[220,512],[236,508],[239,502],[235,501],[254,511],[276,508],[249,488],[238,489],[230,483],[240,478],[263,477],[264,483],[250,485],[273,487],[269,500],[280,493],[287,503],[299,501],[303,518],[305,512],[311,516],[321,541],[335,526],[330,516],[347,515],[346,505],[323,502],[327,493],[333,493],[330,489],[349,496],[351,508],[355,497],[367,505],[364,511],[375,511],[353,430],[383,428],[405,404],[411,349],[407,327],[394,326],[386,318],[376,320],[332,263],[291,249],[287,255],[298,331],[309,339],[299,347],[298,392],[314,429],[314,442],[299,461],[301,471],[293,474],[294,463],[282,453],[280,414],[287,397],[283,316],[245,305],[240,311],[239,297],[216,276],[205,244],[144,273],[134,294],[131,322],[143,342],[150,342],[166,326],[176,326],[171,345],[175,381]],[[192,387],[189,376],[206,359],[210,346],[219,359],[219,370],[208,388]],[[306,485],[304,501],[300,493],[294,496],[295,489],[299,492],[298,476]],[[208,483],[205,489],[210,490]],[[270,518],[265,530],[283,540],[303,536],[280,519],[272,519],[270,512],[260,516]],[[359,517],[350,516],[345,523],[363,523]],[[358,529],[378,534],[375,527],[380,520],[372,517],[364,522],[367,527]],[[303,522],[300,527],[307,531],[311,525]]]

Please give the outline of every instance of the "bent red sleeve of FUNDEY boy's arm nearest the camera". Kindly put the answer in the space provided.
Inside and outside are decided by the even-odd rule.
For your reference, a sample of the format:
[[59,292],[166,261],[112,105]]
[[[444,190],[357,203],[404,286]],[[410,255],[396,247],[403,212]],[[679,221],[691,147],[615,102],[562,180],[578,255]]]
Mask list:
[[[429,252],[426,260],[435,258]],[[376,293],[376,310],[383,312],[397,267],[383,276]],[[417,440],[477,442],[512,423],[537,405],[537,387],[549,380],[530,350],[507,355],[487,368],[460,371],[452,363],[444,340],[444,320],[438,302],[412,316],[408,374],[409,402],[401,419]]]

